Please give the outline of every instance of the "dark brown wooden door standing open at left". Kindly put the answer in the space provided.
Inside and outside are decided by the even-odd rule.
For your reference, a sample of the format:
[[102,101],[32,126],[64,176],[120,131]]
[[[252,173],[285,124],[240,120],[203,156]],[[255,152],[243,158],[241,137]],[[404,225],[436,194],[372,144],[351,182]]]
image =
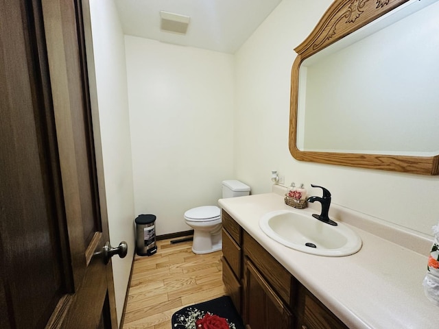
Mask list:
[[0,0],[0,328],[117,328],[80,0]]

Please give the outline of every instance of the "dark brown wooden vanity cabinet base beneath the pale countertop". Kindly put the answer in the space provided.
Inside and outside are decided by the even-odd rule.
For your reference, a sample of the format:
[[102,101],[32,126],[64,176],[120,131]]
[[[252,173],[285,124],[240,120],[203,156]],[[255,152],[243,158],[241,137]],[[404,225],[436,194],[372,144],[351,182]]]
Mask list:
[[247,329],[348,329],[222,210],[223,281]]

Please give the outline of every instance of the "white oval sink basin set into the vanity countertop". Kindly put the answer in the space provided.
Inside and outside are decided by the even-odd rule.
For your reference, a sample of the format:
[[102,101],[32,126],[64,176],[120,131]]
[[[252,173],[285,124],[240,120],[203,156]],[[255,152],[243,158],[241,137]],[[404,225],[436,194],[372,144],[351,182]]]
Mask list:
[[344,224],[331,226],[304,210],[276,210],[259,220],[274,241],[300,252],[320,256],[348,256],[361,249],[361,238]]

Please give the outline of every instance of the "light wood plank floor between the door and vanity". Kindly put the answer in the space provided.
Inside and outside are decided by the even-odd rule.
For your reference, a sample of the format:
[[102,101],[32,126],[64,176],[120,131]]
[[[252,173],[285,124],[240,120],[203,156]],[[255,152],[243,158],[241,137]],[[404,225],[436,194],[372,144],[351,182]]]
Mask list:
[[180,308],[226,295],[221,251],[197,255],[192,241],[170,241],[157,241],[152,256],[134,258],[124,329],[171,329]]

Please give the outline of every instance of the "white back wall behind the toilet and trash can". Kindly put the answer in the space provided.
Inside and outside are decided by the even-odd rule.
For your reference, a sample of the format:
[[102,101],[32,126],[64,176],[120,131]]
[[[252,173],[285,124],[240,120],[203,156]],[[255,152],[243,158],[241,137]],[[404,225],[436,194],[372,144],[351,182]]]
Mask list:
[[233,56],[125,37],[136,215],[156,234],[191,228],[183,214],[216,205],[233,178]]

